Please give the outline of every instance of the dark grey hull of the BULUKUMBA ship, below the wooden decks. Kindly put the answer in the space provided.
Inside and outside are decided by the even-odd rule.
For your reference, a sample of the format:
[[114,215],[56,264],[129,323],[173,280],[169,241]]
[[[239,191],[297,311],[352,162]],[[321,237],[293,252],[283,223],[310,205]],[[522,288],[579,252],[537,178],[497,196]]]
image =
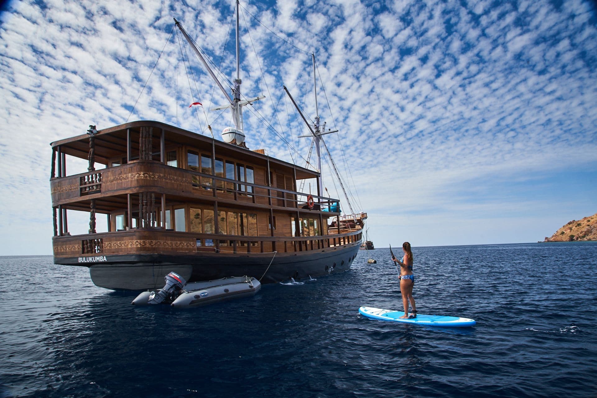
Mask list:
[[360,243],[292,253],[120,254],[87,257],[91,261],[82,263],[79,258],[55,258],[54,262],[88,266],[93,283],[113,290],[161,288],[165,274],[170,271],[179,273],[187,282],[248,275],[261,279],[261,283],[275,283],[345,271],[350,268]]

